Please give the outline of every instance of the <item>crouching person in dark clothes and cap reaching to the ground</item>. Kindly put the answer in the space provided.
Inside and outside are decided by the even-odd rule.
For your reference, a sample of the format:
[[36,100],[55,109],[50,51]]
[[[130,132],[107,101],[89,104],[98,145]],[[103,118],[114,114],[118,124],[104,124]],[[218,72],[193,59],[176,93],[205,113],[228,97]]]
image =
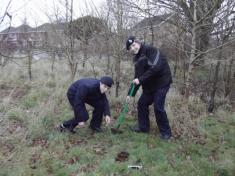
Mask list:
[[89,128],[96,132],[102,132],[100,127],[103,115],[107,124],[111,121],[109,102],[105,93],[112,84],[113,79],[109,76],[104,76],[100,80],[88,78],[74,82],[67,92],[69,103],[74,110],[74,118],[60,124],[59,130],[75,133],[74,128],[77,125],[84,126],[89,118],[85,107],[87,103],[94,108]]

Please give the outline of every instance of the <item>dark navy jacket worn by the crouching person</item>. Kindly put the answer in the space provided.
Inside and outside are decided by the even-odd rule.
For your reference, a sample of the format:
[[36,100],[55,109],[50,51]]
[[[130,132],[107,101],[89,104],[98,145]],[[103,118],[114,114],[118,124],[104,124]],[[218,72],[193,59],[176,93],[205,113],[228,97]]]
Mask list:
[[[100,92],[100,80],[88,78],[80,79],[74,82],[68,89],[68,95],[74,96],[75,111],[84,108],[84,104],[92,104],[91,102],[103,101],[104,115],[110,115],[109,102],[107,97]],[[88,114],[86,115],[88,116]]]

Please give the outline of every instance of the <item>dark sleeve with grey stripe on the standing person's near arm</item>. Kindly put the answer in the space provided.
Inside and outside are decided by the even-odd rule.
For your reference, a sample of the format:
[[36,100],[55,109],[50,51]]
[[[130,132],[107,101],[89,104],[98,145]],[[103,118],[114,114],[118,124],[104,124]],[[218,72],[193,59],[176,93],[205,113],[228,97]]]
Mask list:
[[162,70],[164,63],[160,52],[158,53],[154,58],[148,58],[149,68],[139,77],[140,84],[145,83],[149,78],[157,75]]

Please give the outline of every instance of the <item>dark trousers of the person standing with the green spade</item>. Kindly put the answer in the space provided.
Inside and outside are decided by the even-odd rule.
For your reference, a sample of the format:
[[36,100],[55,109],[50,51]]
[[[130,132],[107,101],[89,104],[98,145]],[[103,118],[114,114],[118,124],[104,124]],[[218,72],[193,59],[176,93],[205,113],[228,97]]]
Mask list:
[[138,125],[143,131],[149,131],[149,106],[154,104],[156,123],[162,135],[171,135],[171,128],[164,109],[166,94],[170,86],[157,89],[153,94],[142,94],[138,101]]

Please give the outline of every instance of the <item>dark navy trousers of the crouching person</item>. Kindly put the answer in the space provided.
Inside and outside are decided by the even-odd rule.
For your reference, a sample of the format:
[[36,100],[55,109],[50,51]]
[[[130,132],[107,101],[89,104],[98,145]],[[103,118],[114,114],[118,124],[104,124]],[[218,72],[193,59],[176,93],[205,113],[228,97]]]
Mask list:
[[[70,105],[74,111],[74,118],[65,121],[63,123],[64,127],[73,129],[75,128],[79,122],[86,122],[89,119],[88,112],[86,110],[85,103],[75,107],[75,95],[67,93],[67,97]],[[95,101],[87,101],[87,104],[94,108],[92,112],[92,119],[90,121],[90,126],[92,127],[100,127],[102,124],[103,114],[104,114],[104,100],[99,99]]]

